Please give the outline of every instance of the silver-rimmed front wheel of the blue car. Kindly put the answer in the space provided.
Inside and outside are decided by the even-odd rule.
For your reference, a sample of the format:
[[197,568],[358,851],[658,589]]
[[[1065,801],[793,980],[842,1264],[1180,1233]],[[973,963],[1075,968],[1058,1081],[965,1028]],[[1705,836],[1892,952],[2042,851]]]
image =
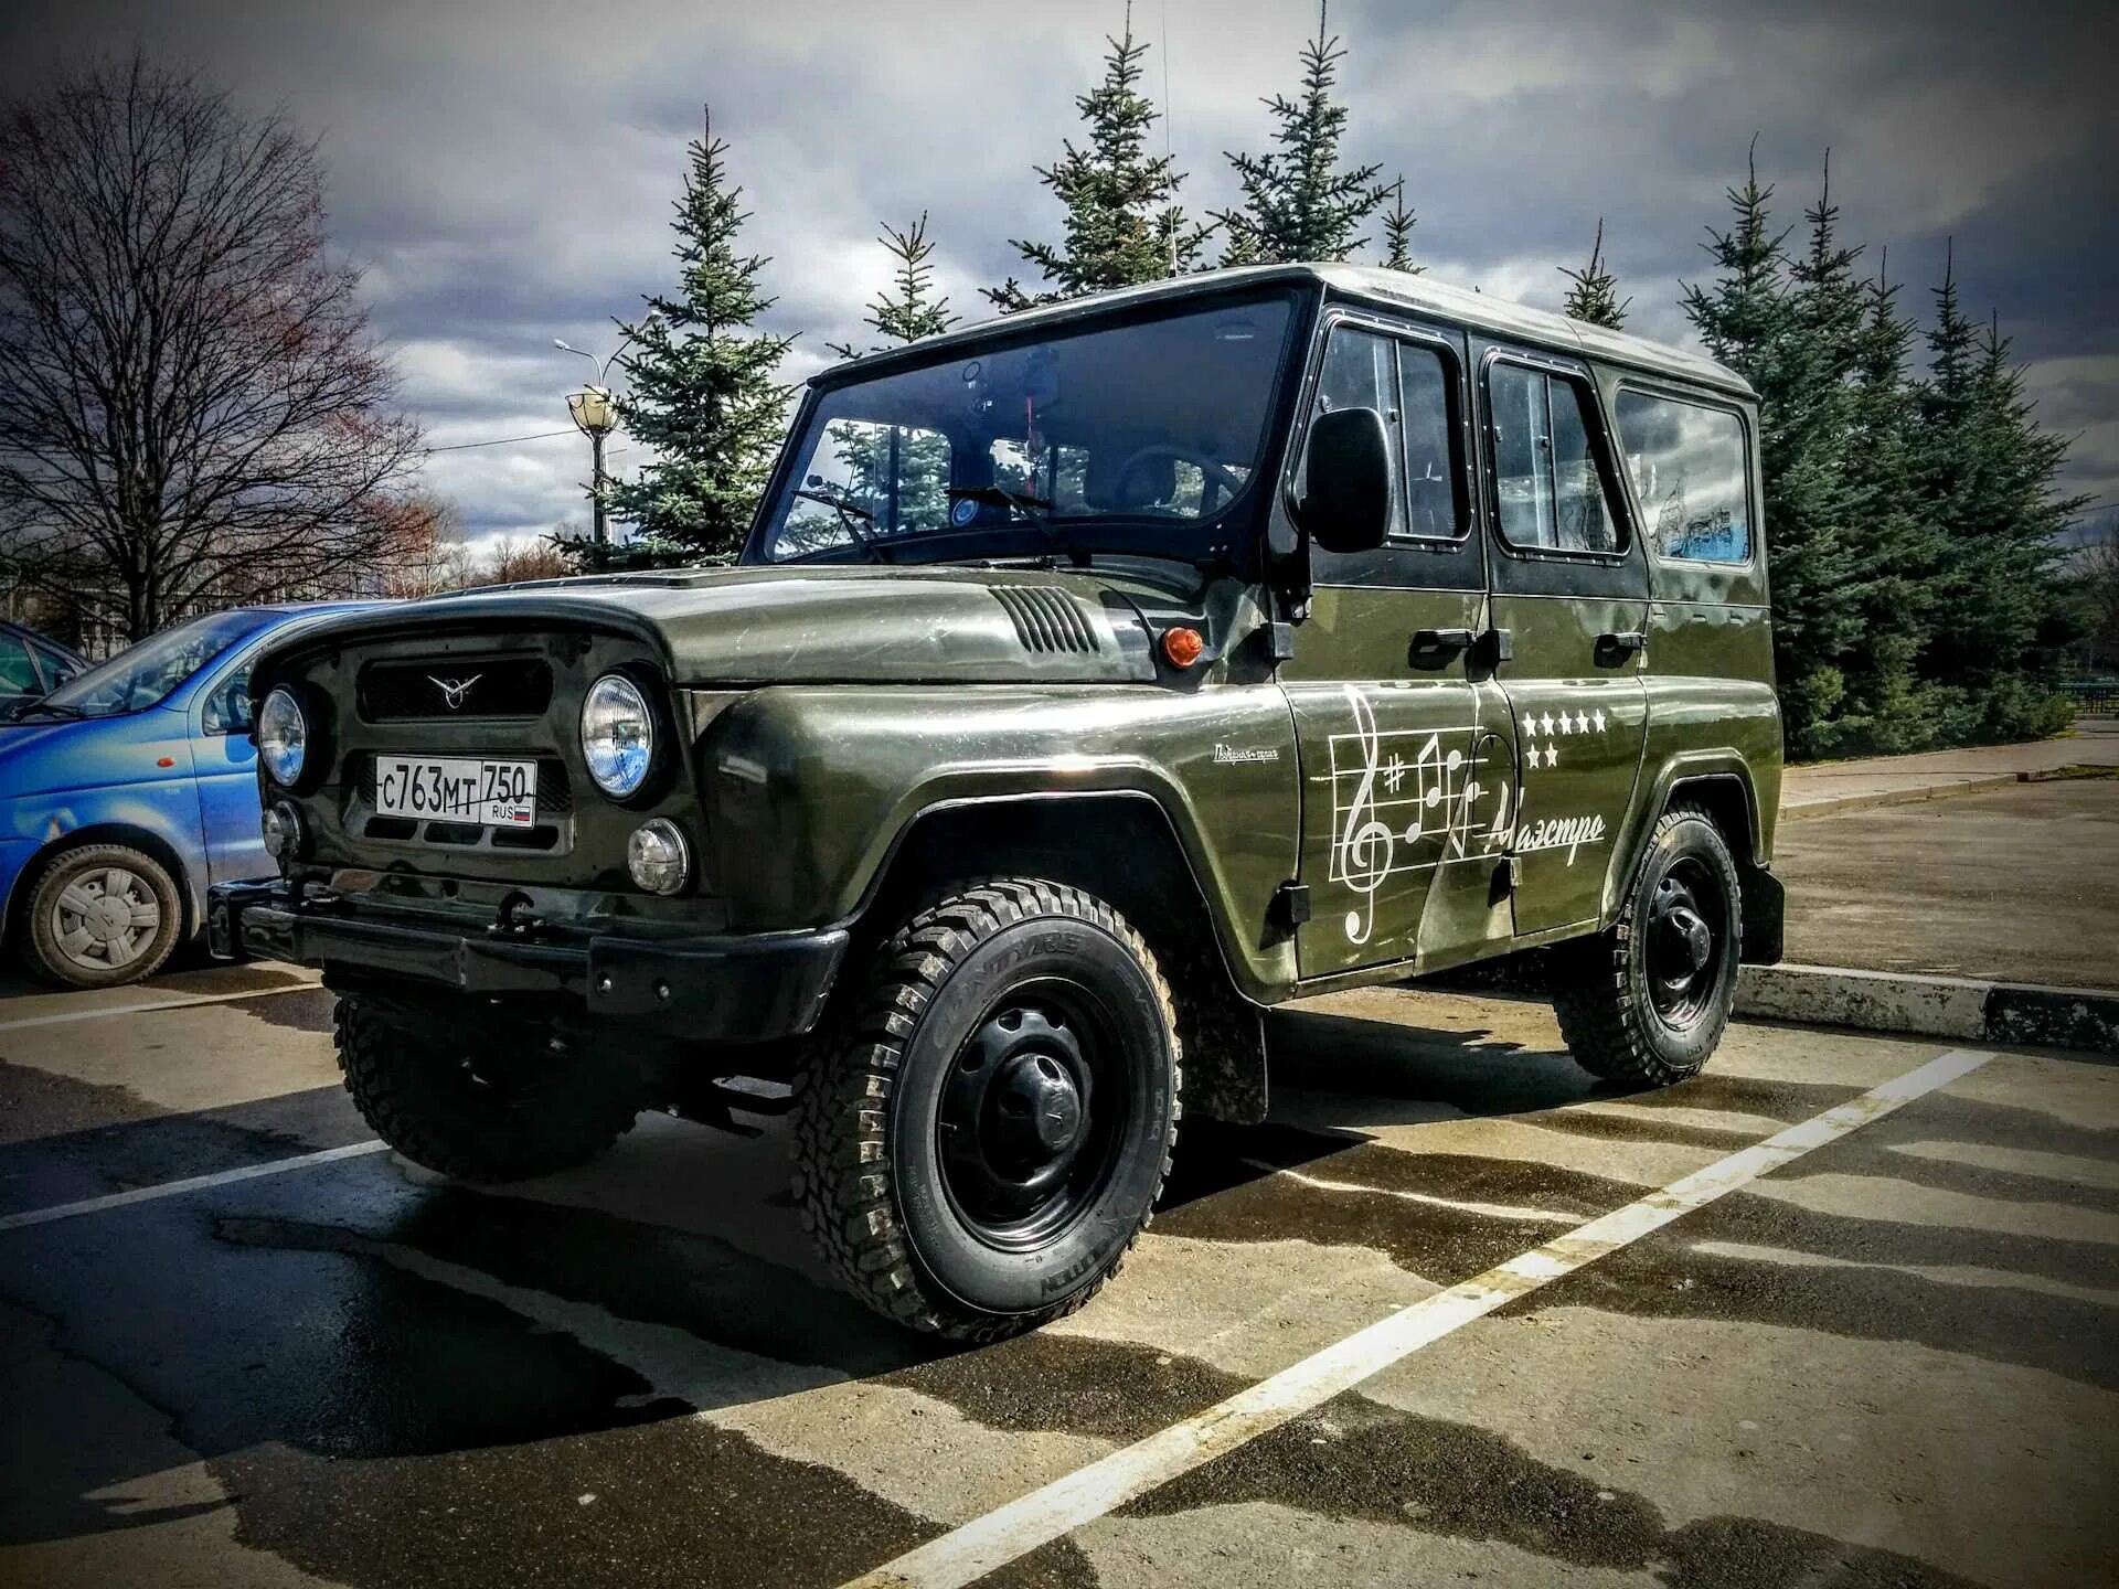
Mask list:
[[176,879],[153,856],[89,843],[53,856],[30,888],[21,958],[66,987],[117,987],[161,970],[184,930]]

